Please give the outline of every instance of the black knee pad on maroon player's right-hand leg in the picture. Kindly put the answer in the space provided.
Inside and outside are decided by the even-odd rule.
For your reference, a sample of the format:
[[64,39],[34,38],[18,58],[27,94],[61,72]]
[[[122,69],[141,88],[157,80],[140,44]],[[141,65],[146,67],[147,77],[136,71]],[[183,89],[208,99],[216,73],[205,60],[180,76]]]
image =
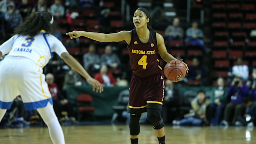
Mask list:
[[158,109],[148,108],[148,121],[153,125],[154,129],[164,127],[164,121],[161,117],[161,111]]

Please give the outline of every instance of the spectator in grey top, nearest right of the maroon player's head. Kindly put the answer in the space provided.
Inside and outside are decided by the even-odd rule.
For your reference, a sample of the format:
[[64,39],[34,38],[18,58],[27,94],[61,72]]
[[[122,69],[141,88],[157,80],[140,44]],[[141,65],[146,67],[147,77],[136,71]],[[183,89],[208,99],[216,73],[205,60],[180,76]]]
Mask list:
[[173,40],[182,40],[183,38],[183,28],[179,27],[180,19],[174,18],[172,25],[167,26],[165,29],[165,37],[167,38],[168,43]]

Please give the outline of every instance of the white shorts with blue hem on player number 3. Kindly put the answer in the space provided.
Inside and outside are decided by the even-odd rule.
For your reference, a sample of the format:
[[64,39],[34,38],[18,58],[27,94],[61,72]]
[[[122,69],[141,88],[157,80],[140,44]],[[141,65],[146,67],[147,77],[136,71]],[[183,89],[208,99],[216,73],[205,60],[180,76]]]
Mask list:
[[5,57],[0,62],[0,108],[10,109],[16,96],[21,95],[26,110],[35,110],[52,102],[43,70],[32,60]]

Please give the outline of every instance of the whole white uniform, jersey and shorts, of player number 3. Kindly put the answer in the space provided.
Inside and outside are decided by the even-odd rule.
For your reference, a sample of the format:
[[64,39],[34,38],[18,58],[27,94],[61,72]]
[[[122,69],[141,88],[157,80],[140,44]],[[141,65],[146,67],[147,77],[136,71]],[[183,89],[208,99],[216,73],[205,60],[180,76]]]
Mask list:
[[40,32],[35,37],[15,35],[0,46],[0,108],[9,109],[14,98],[21,95],[26,110],[35,110],[52,102],[43,66],[53,56],[67,52],[56,37]]

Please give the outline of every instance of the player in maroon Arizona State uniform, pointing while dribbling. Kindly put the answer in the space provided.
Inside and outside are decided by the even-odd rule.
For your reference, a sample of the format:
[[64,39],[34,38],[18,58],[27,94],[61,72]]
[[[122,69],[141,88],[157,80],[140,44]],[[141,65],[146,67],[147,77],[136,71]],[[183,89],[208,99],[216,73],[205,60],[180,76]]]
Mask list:
[[[165,60],[174,60],[167,53],[164,38],[150,27],[148,10],[139,7],[133,15],[135,28],[131,31],[104,34],[84,31],[68,32],[70,38],[88,37],[99,42],[126,41],[128,44],[133,76],[130,81],[129,128],[132,144],[138,144],[139,120],[142,112],[148,112],[148,120],[156,131],[160,144],[165,144],[164,122],[160,111],[164,97],[164,76],[161,74],[158,53]],[[177,59],[176,59],[177,60]],[[182,59],[180,59],[182,62]],[[184,63],[185,64],[185,63]],[[188,67],[185,64],[187,72]]]

